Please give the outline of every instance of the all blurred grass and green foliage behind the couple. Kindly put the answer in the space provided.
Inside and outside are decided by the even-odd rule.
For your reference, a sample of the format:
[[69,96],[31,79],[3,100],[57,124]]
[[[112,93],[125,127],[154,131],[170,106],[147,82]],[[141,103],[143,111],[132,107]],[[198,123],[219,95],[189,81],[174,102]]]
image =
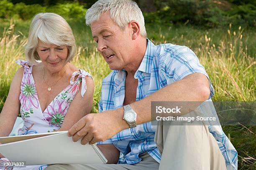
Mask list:
[[[148,38],[156,45],[191,48],[215,89],[214,101],[256,101],[256,0],[135,0]],[[96,0],[0,0],[0,111],[10,82],[26,60],[24,46],[34,15],[57,13],[71,26],[78,53],[72,63],[95,81],[92,112],[98,112],[102,79],[111,71],[97,52],[84,14]],[[238,169],[256,170],[256,126],[223,126],[238,151]]]

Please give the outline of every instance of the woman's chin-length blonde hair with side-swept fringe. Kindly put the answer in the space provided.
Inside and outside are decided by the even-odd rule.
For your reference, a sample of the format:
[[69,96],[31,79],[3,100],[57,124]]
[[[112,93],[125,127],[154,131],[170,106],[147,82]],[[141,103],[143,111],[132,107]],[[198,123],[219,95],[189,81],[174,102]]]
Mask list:
[[64,18],[54,13],[37,14],[30,25],[25,55],[29,62],[36,63],[40,57],[36,51],[38,39],[46,44],[67,45],[67,62],[76,54],[76,41],[72,29]]

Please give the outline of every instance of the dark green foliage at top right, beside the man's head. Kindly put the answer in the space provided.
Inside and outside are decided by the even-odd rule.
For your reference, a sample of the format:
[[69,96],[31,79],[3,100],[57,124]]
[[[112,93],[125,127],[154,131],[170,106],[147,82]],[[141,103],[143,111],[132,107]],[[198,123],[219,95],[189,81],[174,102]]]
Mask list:
[[[232,2],[232,0],[229,0]],[[242,2],[233,0],[232,4],[224,0],[158,0],[155,2],[158,9],[146,15],[146,23],[192,23],[215,27],[219,25],[256,26],[255,1]],[[154,15],[157,15],[154,16]],[[149,22],[148,22],[149,21]]]

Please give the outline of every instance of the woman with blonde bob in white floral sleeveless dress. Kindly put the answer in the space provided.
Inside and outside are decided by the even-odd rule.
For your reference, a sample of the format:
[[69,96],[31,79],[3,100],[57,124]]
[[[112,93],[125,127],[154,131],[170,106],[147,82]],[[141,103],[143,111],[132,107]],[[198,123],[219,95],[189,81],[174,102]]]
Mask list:
[[10,134],[19,112],[24,126],[18,135],[68,130],[90,113],[94,83],[88,72],[70,63],[75,51],[64,18],[54,13],[34,17],[25,47],[27,61],[16,61],[22,67],[0,114],[0,136]]

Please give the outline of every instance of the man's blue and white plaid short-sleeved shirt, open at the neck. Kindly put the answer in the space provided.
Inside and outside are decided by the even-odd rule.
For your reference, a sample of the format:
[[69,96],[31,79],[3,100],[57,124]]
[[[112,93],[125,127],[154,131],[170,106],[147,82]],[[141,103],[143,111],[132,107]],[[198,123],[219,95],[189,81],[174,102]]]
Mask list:
[[[134,78],[138,79],[136,101],[195,72],[200,72],[208,77],[205,68],[200,64],[195,53],[188,47],[173,44],[156,46],[148,40],[146,53],[134,75]],[[123,106],[125,76],[125,70],[114,70],[103,79],[99,112],[114,110]],[[207,101],[211,101],[213,95],[214,89],[210,82],[210,97]],[[205,106],[201,106],[201,108],[203,107]],[[210,107],[212,114],[216,115],[214,106]],[[204,110],[202,109],[202,112]],[[236,170],[237,152],[221,126],[209,125],[208,127],[225,158],[227,169]],[[160,163],[161,155],[156,147],[156,143],[154,143],[155,132],[156,126],[151,125],[151,122],[146,122],[137,125],[135,128],[122,130],[113,138],[99,142],[99,144],[113,143],[123,154],[123,158],[118,163],[138,163],[141,161],[139,154],[144,152],[147,152]]]

